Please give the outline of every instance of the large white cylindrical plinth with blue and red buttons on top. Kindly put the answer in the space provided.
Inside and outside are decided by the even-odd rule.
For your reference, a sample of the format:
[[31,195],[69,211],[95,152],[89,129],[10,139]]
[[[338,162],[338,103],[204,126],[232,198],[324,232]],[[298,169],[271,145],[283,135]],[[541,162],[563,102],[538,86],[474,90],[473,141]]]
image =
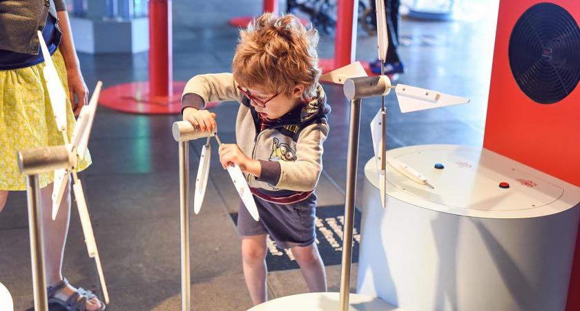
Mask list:
[[421,145],[387,156],[435,189],[387,164],[383,209],[367,162],[359,294],[407,311],[565,310],[579,187],[486,149]]

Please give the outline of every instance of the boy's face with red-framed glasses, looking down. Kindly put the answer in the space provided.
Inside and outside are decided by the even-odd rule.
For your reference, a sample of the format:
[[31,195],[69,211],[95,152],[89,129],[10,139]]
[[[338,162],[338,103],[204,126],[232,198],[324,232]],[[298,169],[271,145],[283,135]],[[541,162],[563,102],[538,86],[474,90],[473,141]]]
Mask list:
[[[300,103],[302,92],[304,92],[304,86],[296,86],[293,88],[293,92],[290,96],[284,93],[276,95],[276,93],[264,91],[260,88],[242,89],[251,95],[250,104],[254,107],[256,112],[260,113],[260,117],[267,117],[268,119],[276,119],[289,113],[289,111],[294,109]],[[260,102],[255,102],[253,98],[260,102],[268,101],[264,107],[262,107],[262,104]]]

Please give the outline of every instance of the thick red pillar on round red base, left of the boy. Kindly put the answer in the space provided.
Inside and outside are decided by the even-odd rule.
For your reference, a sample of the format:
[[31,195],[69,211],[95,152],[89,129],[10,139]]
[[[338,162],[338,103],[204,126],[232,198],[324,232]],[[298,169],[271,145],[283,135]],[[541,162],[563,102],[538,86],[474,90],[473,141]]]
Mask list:
[[168,96],[173,91],[171,0],[149,0],[149,91]]

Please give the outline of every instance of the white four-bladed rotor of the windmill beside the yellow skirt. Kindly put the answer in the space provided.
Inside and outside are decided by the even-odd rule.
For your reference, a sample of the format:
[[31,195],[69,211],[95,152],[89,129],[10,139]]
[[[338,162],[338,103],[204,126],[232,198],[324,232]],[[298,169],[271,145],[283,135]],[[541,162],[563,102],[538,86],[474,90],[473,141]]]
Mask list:
[[[97,82],[93,96],[90,97],[88,105],[81,108],[81,112],[77,119],[77,124],[72,130],[72,138],[68,141],[66,131],[66,93],[61,84],[61,80],[50,58],[48,48],[42,37],[42,33],[38,32],[40,46],[46,66],[43,68],[43,75],[46,81],[48,96],[50,97],[50,104],[52,106],[52,113],[55,116],[58,131],[62,133],[64,144],[69,153],[72,153],[78,159],[84,159],[87,151],[88,138],[90,137],[90,130],[93,127],[93,120],[97,111],[97,102],[99,100],[99,93],[101,91],[102,82]],[[71,99],[72,100],[72,99]],[[68,183],[70,174],[72,173],[72,191],[75,193],[77,202],[77,209],[79,210],[79,217],[81,218],[81,227],[86,243],[86,249],[90,258],[95,258],[97,265],[97,272],[99,274],[99,281],[103,290],[105,303],[109,303],[109,296],[107,285],[105,283],[103,267],[101,265],[101,258],[99,257],[99,250],[95,242],[95,234],[93,233],[93,225],[90,223],[88,209],[86,207],[86,200],[81,185],[81,180],[77,176],[77,168],[73,167],[70,171],[68,169],[59,169],[55,171],[54,189],[52,191],[52,220],[55,220],[59,206],[64,194],[64,190]]]

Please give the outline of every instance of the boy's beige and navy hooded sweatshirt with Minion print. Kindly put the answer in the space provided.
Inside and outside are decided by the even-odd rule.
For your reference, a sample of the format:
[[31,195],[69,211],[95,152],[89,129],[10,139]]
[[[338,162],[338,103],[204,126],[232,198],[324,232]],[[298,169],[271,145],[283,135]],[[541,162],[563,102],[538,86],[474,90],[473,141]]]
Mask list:
[[322,171],[322,143],[329,126],[330,106],[320,84],[316,96],[260,131],[260,118],[231,73],[197,75],[187,82],[182,109],[204,109],[206,102],[240,103],[235,122],[238,147],[260,160],[260,178],[246,174],[253,194],[269,202],[291,204],[307,198]]

